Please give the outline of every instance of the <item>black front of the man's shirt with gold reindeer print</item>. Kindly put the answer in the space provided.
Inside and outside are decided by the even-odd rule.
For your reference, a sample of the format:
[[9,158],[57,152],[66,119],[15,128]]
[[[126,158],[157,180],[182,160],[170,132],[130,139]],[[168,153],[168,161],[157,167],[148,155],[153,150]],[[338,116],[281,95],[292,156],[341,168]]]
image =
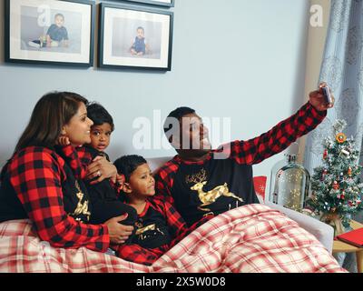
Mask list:
[[[232,159],[204,162],[171,162],[172,204],[191,226],[203,216],[217,216],[246,204],[259,203],[252,181],[252,167]],[[160,180],[157,180],[160,183]]]

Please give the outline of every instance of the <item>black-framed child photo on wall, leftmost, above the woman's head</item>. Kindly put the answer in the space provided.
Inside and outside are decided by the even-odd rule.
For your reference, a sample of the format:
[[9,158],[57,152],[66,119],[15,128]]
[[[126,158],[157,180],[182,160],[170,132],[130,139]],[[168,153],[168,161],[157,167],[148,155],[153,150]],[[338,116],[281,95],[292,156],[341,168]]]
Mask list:
[[5,1],[6,62],[93,65],[93,1]]

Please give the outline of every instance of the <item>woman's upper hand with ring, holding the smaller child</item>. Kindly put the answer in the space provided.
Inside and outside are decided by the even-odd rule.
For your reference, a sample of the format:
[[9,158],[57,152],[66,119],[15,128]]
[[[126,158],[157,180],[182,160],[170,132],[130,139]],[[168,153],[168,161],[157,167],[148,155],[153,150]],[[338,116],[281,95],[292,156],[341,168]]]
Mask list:
[[87,167],[87,175],[85,178],[87,180],[92,180],[93,178],[98,177],[90,183],[93,185],[116,175],[117,169],[112,163],[107,161],[103,156],[96,156],[93,159],[93,162]]

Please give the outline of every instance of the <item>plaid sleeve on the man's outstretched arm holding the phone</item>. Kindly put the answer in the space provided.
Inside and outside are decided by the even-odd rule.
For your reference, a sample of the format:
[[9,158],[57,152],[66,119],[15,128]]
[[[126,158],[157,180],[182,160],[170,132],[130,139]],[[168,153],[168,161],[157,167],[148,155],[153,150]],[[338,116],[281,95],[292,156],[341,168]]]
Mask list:
[[247,141],[232,142],[231,158],[239,164],[258,164],[315,129],[326,115],[327,111],[319,112],[308,102],[295,115],[281,121],[267,133]]

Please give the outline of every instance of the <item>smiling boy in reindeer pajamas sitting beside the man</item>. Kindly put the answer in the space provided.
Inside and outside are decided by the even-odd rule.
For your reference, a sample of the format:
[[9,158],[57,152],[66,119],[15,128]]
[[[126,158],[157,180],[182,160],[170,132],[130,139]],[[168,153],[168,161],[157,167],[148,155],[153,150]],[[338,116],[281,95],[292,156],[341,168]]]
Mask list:
[[116,255],[134,263],[152,265],[209,217],[190,228],[168,202],[153,199],[155,180],[142,156],[123,156],[114,162],[119,175],[124,176],[125,202],[136,209],[135,235],[129,245],[115,248]]

